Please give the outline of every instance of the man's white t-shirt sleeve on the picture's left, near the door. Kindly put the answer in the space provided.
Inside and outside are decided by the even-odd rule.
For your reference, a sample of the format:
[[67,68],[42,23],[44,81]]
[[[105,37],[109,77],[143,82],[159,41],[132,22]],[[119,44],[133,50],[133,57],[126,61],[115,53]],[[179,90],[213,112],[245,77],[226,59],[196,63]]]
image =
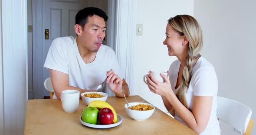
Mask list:
[[58,38],[53,40],[43,67],[69,74],[67,54]]

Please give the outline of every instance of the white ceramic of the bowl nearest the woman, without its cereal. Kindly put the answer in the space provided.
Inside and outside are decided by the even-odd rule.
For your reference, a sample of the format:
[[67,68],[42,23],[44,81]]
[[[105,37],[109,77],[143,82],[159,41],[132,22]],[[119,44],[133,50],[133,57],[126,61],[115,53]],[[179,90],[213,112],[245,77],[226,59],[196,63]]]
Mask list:
[[[155,109],[155,106],[153,106],[149,103],[141,103],[141,102],[129,103],[130,107],[136,106],[138,104],[142,104],[142,105],[144,104],[146,106],[149,105]],[[133,109],[128,109],[128,105],[125,104],[125,112],[128,114],[129,117],[131,117],[132,119],[137,120],[137,121],[142,121],[142,120],[148,119],[154,113],[154,109],[145,110],[145,111],[133,110]]]

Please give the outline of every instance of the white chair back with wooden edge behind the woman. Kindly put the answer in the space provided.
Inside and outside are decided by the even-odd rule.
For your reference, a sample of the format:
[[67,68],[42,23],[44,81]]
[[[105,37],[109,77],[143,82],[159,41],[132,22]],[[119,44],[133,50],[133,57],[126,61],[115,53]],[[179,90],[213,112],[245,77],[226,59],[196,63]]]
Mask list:
[[253,129],[252,110],[234,100],[217,97],[217,117],[234,128],[236,132],[250,135]]

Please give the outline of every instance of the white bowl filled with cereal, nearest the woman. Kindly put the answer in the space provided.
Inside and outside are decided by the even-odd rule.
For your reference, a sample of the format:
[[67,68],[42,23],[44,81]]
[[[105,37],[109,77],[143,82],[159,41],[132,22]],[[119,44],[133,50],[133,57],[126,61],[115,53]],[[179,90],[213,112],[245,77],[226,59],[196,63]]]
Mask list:
[[148,119],[153,113],[155,106],[150,103],[132,102],[129,103],[131,109],[125,104],[125,112],[134,120],[142,121]]

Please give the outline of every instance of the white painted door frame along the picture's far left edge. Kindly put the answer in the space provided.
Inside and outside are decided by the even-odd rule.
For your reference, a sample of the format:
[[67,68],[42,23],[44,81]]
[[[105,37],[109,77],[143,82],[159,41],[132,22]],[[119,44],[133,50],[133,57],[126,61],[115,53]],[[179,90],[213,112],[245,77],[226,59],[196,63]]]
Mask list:
[[0,135],[24,132],[27,84],[27,0],[0,0]]

